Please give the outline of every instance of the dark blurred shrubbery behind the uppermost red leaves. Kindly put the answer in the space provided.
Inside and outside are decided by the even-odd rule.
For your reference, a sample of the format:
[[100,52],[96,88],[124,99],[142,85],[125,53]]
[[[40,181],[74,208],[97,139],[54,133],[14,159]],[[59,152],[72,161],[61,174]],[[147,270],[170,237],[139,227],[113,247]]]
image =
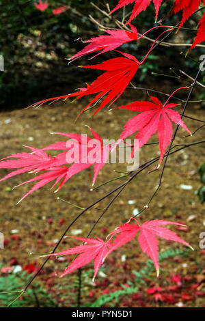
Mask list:
[[[88,0],[49,0],[49,8],[44,12],[36,9],[33,0],[1,0],[0,1],[0,54],[5,60],[5,71],[0,72],[1,110],[27,107],[28,104],[50,96],[68,94],[77,87],[82,87],[85,81],[94,80],[94,72],[86,72],[76,68],[79,64],[90,64],[88,57],[74,61],[68,66],[65,58],[83,48],[81,37],[87,40],[92,36],[103,34],[89,19],[92,15],[100,24],[106,27],[115,27],[110,20],[96,10]],[[114,8],[117,0],[109,0],[110,8]],[[105,2],[94,0],[102,10],[106,11]],[[166,16],[172,8],[173,1],[167,1],[161,6],[160,18]],[[52,10],[61,5],[68,5],[68,10],[54,15]],[[125,14],[133,9],[133,5],[126,7]],[[188,27],[196,28],[198,18],[194,16],[187,23]],[[166,24],[178,23],[181,13],[166,19]],[[122,18],[122,10],[115,12],[115,17]],[[154,26],[154,5],[150,5],[146,12],[133,20],[133,25],[139,32],[146,31]],[[141,27],[143,26],[143,27]],[[169,38],[169,42],[191,42],[195,31],[180,31],[177,36]],[[156,38],[159,31],[149,33],[150,38]],[[177,40],[176,40],[177,38]],[[136,55],[141,59],[150,42],[141,40],[140,44],[133,42],[124,44],[120,50]],[[136,50],[137,49],[137,50]],[[203,49],[203,50],[202,50]],[[154,79],[165,81],[163,77],[150,76],[151,72],[172,74],[169,68],[179,68],[195,75],[198,57],[204,53],[204,48],[197,48],[190,57],[196,60],[184,59],[180,52],[186,53],[187,47],[159,46],[144,65],[137,79],[139,87],[152,85]],[[95,59],[93,64],[107,57],[118,55],[108,53]],[[166,59],[165,59],[166,57]],[[95,73],[96,74],[96,73]],[[173,74],[172,74],[173,75]],[[178,83],[176,79],[169,79]],[[136,81],[135,81],[136,83]],[[199,92],[200,99],[204,94]]]

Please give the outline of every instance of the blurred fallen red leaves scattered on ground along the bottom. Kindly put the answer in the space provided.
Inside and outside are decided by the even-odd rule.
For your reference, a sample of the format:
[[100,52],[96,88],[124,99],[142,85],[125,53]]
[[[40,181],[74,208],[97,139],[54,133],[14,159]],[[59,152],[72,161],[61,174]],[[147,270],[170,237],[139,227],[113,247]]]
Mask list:
[[[56,228],[56,225],[55,225]],[[32,235],[33,235],[32,231]],[[36,234],[38,232],[36,231]],[[38,238],[38,240],[41,240]],[[11,245],[19,244],[18,242],[11,240],[10,245],[5,245],[6,249],[14,249],[11,247]],[[47,244],[48,245],[48,244]],[[25,246],[25,243],[22,244],[22,246]],[[42,247],[45,247],[45,244],[41,244]],[[135,246],[135,245],[134,245]],[[18,245],[19,249],[19,245]],[[21,247],[22,249],[22,247]],[[40,248],[40,251],[42,251],[42,248]],[[13,252],[12,252],[13,253]],[[110,275],[110,277],[99,277],[95,281],[95,287],[93,285],[87,285],[86,290],[86,300],[94,302],[96,301],[96,298],[98,296],[101,296],[102,294],[110,294],[113,292],[116,292],[118,290],[124,290],[124,287],[129,288],[131,283],[135,283],[135,274],[131,273],[132,267],[130,266],[130,263],[128,260],[124,264],[119,264],[115,261],[116,257],[120,258],[120,253],[116,255],[115,257],[107,257],[106,260],[106,266],[107,268],[111,268],[111,272],[113,273]],[[137,266],[140,264],[143,264],[143,255],[136,255],[137,256]],[[64,260],[63,260],[64,259]],[[68,262],[72,261],[72,257],[59,257],[58,262],[66,262],[66,259],[68,259]],[[70,260],[69,260],[70,259]],[[184,261],[185,260],[185,261]],[[182,259],[180,257],[174,258],[175,262],[178,262],[178,264],[182,264],[182,262],[186,262],[186,259]],[[26,270],[27,273],[36,273],[38,270],[38,262],[34,261],[33,263],[25,264],[25,260],[21,259],[20,257],[12,257],[7,262],[7,266],[3,266],[1,268],[0,273],[1,277],[6,277],[6,275],[13,273],[13,270],[16,265],[20,265],[23,270]],[[172,259],[167,260],[166,262],[162,263],[163,268],[167,266],[167,264],[172,264]],[[115,269],[119,268],[118,274],[115,274]],[[180,273],[180,274],[179,274]],[[182,271],[180,270],[180,267],[178,267],[178,272],[174,272],[171,275],[160,275],[159,279],[156,281],[153,279],[153,275],[146,275],[143,277],[143,283],[137,283],[138,290],[136,293],[131,294],[130,296],[124,296],[120,299],[118,304],[115,304],[116,307],[118,305],[120,307],[153,307],[153,306],[177,306],[177,307],[204,307],[203,301],[205,297],[204,293],[204,275],[203,274],[197,274],[199,273],[198,266],[192,265],[191,270],[189,269],[188,275],[183,275]],[[201,270],[200,270],[201,273]],[[42,283],[45,284],[48,293],[50,293],[52,296],[55,296],[57,301],[61,303],[63,306],[68,307],[68,302],[66,303],[66,298],[68,297],[67,289],[63,289],[60,291],[57,290],[58,287],[58,281],[55,278],[56,275],[59,275],[60,271],[55,270],[54,273],[51,272],[51,268],[44,268],[42,273],[40,273],[39,278]],[[73,278],[70,277],[66,279],[66,282],[72,284]],[[130,283],[131,282],[131,283]],[[122,286],[123,285],[123,286]],[[73,292],[75,290],[72,290]],[[64,298],[62,298],[64,297]],[[65,302],[64,302],[65,301]],[[69,296],[70,301],[70,296]],[[76,302],[73,302],[73,305]],[[66,305],[67,304],[67,305]],[[70,304],[70,302],[69,302]],[[105,307],[103,305],[103,307]]]

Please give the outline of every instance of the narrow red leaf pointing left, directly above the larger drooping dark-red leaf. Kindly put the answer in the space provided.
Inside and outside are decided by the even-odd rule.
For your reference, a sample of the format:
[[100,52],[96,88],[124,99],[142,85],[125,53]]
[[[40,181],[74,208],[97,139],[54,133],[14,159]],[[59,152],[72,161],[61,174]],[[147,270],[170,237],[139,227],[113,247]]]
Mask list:
[[83,57],[84,55],[87,55],[89,53],[101,51],[100,53],[94,56],[96,57],[101,53],[107,53],[107,51],[114,50],[122,44],[126,44],[126,42],[137,40],[137,29],[133,25],[131,25],[131,29],[132,31],[125,31],[120,29],[105,30],[105,32],[107,32],[109,36],[98,36],[85,41],[85,43],[90,42],[90,44],[87,44],[87,46],[85,46],[83,50],[73,55],[70,58],[70,60],[74,61],[75,59]]

